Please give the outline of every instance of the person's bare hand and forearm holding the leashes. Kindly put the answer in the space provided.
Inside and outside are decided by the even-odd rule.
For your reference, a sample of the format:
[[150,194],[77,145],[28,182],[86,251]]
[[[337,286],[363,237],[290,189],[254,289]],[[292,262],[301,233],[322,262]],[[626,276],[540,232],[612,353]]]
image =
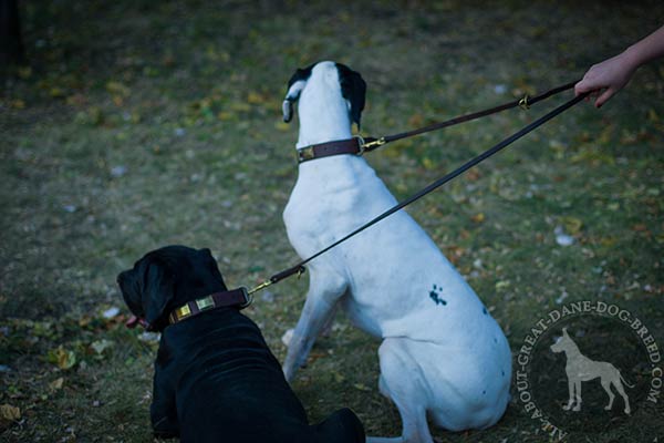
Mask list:
[[632,44],[624,52],[591,66],[583,80],[574,86],[577,95],[592,92],[599,95],[595,107],[601,107],[630,81],[634,71],[644,63],[664,55],[664,27]]

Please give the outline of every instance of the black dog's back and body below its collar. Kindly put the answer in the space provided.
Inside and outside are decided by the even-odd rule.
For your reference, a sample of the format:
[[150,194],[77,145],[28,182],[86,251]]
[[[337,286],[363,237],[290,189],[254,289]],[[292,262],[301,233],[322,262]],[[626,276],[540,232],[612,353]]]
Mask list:
[[155,364],[156,383],[175,390],[183,442],[364,442],[351,411],[308,424],[259,328],[236,310],[166,328]]

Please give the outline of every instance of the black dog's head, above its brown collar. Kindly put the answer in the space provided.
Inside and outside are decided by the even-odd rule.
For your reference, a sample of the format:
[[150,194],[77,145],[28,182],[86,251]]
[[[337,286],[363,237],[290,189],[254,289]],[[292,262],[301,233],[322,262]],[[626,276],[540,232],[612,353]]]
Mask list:
[[187,301],[224,291],[226,285],[210,250],[167,246],[146,254],[117,276],[125,303],[148,330],[168,326],[168,315]]

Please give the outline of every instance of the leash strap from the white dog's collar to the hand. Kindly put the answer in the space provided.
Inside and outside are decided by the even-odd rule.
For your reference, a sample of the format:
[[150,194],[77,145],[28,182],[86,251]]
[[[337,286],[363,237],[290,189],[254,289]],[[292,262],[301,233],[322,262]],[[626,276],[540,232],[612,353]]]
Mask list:
[[419,135],[419,134],[424,134],[427,132],[432,132],[432,131],[437,131],[437,130],[442,130],[444,127],[448,127],[448,126],[454,126],[457,125],[459,123],[465,123],[465,122],[470,122],[473,120],[477,120],[477,119],[481,119],[481,117],[486,117],[488,115],[492,115],[492,114],[497,114],[499,112],[502,111],[507,111],[510,110],[512,107],[521,107],[521,109],[529,109],[531,105],[541,102],[542,100],[547,100],[549,99],[551,95],[556,95],[559,94],[563,91],[570,90],[572,87],[574,87],[574,85],[578,83],[579,81],[574,81],[574,82],[570,82],[570,83],[566,83],[563,85],[560,85],[558,87],[553,87],[547,92],[543,92],[539,95],[535,95],[535,96],[529,96],[528,94],[526,94],[522,99],[519,100],[515,100],[512,102],[509,103],[505,103],[495,107],[490,107],[488,110],[484,110],[484,111],[478,111],[478,112],[474,112],[471,114],[466,114],[466,115],[461,115],[458,117],[454,117],[454,119],[449,119],[446,120],[444,122],[439,122],[439,123],[434,123],[430,124],[428,126],[424,126],[424,127],[419,127],[417,130],[413,130],[413,131],[407,131],[407,132],[402,132],[398,134],[393,134],[393,135],[386,135],[384,137],[380,137],[380,138],[374,138],[374,137],[366,137],[364,138],[364,152],[371,152],[371,151],[375,151],[378,147],[386,145],[387,143],[391,142],[395,142],[397,140],[402,140],[402,138],[407,138],[407,137],[413,137],[415,135]]

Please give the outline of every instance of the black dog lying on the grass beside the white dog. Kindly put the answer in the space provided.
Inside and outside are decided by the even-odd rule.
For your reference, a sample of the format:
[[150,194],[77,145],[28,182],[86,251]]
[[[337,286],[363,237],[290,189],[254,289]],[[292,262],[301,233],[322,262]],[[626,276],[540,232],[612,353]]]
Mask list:
[[179,435],[183,442],[364,443],[362,423],[349,409],[309,425],[259,328],[238,306],[169,324],[179,307],[227,291],[209,249],[154,250],[117,282],[131,311],[149,330],[163,331],[151,406],[156,435]]

